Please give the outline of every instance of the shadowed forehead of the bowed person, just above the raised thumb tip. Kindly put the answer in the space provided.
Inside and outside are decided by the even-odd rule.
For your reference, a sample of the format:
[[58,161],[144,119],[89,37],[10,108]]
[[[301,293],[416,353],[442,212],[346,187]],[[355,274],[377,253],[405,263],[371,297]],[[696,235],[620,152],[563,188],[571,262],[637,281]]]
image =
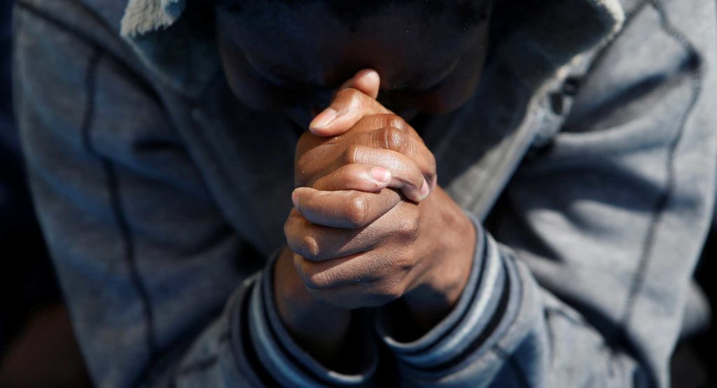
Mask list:
[[455,9],[408,3],[362,6],[353,18],[350,9],[316,2],[244,6],[241,12],[220,13],[219,28],[255,66],[306,82],[336,84],[371,67],[391,83],[402,84],[415,73],[436,74],[451,67],[480,30],[475,28],[480,23],[466,24]]

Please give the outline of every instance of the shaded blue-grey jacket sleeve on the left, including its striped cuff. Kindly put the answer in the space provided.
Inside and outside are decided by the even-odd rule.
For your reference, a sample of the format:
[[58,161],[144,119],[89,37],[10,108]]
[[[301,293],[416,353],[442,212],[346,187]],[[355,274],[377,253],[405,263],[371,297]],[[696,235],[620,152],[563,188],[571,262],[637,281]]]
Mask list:
[[92,15],[78,17],[97,31],[85,37],[25,3],[14,33],[22,148],[95,384],[364,384],[375,359],[339,374],[282,329],[261,271],[272,261],[229,227],[131,55],[103,45]]

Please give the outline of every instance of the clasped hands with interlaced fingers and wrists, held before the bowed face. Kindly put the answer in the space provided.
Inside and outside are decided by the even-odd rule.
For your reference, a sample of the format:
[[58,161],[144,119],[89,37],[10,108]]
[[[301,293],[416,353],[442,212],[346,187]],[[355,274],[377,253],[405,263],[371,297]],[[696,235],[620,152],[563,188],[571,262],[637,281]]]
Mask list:
[[298,336],[313,336],[302,333],[314,325],[305,314],[342,321],[342,310],[402,297],[430,326],[470,272],[473,224],[437,185],[421,137],[376,101],[379,83],[357,73],[298,141],[288,249],[275,269],[277,305]]

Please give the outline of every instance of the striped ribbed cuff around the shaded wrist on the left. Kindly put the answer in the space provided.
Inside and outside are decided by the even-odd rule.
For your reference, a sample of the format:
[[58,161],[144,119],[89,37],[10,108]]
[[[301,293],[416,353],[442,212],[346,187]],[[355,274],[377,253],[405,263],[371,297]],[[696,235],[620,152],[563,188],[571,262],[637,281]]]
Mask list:
[[[250,294],[248,320],[250,338],[262,366],[285,387],[354,387],[373,377],[378,362],[373,341],[365,341],[364,368],[359,374],[341,374],[323,367],[293,341],[283,326],[274,302],[274,255],[257,279]],[[366,335],[369,335],[366,333]]]

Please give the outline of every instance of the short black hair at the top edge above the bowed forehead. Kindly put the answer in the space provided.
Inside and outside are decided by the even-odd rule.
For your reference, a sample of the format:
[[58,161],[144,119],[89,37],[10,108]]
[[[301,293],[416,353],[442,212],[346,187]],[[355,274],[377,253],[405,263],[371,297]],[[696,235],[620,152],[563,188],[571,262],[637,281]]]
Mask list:
[[328,9],[337,19],[352,24],[366,17],[378,14],[386,6],[414,6],[424,18],[436,18],[452,12],[457,25],[462,29],[488,19],[493,0],[216,0],[217,6],[235,14],[265,16],[272,4],[289,8],[320,5]]

